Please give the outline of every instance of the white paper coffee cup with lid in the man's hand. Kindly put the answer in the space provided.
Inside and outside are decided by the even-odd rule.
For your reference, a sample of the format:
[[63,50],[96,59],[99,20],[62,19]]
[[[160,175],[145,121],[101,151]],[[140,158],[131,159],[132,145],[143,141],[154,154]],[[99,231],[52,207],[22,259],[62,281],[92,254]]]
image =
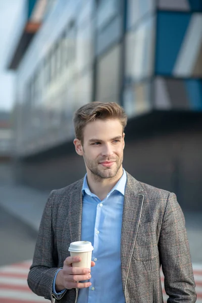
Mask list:
[[70,251],[71,257],[80,257],[81,261],[72,263],[73,267],[91,267],[91,258],[92,258],[92,250],[93,246],[89,241],[76,241],[70,243],[70,247],[68,249]]

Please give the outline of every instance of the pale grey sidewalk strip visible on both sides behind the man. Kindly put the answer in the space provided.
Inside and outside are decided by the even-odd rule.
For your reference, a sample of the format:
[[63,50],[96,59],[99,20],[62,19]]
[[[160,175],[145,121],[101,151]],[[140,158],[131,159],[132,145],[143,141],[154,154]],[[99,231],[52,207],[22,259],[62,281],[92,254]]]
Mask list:
[[[0,185],[0,206],[37,232],[48,195],[25,186]],[[202,264],[202,213],[184,216],[192,262]]]

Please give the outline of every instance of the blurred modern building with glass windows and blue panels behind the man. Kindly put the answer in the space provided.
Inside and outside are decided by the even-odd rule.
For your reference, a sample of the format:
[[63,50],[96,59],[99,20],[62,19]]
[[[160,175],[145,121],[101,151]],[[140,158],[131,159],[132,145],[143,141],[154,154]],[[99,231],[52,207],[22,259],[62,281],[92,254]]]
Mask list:
[[124,167],[188,208],[202,178],[202,2],[58,0],[47,9],[38,0],[31,8],[32,23],[36,8],[43,12],[40,26],[10,65],[17,180],[51,190],[82,177],[73,113],[117,102],[129,117]]

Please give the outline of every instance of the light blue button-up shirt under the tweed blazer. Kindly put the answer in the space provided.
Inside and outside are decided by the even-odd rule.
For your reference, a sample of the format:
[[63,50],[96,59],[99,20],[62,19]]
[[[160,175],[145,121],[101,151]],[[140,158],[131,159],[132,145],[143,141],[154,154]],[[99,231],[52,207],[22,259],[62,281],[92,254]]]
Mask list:
[[[121,179],[101,201],[90,191],[85,175],[81,240],[92,243],[95,266],[91,268],[92,285],[79,289],[77,303],[125,303],[121,279],[121,226],[126,179],[123,170]],[[55,282],[53,290],[57,294]]]

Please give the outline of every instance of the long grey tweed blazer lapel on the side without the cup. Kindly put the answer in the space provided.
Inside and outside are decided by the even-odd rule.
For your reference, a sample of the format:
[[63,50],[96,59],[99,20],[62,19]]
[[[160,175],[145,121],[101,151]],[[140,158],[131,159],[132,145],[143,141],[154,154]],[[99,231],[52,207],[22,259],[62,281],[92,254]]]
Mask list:
[[140,183],[127,173],[121,231],[121,271],[123,289],[125,289],[138,222],[141,217],[143,205],[142,191],[143,189],[141,188]]

